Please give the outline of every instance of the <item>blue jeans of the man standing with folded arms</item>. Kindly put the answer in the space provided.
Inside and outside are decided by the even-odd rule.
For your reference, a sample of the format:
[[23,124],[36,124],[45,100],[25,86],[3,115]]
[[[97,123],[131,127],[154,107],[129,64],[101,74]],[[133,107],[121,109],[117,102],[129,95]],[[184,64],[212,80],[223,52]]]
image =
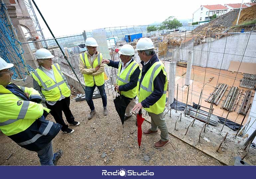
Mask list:
[[[89,105],[91,111],[94,111],[94,104],[92,101],[92,95],[93,95],[93,91],[95,90],[96,85],[94,85],[93,87],[85,87],[85,100],[87,102],[87,104]],[[105,92],[105,85],[101,85],[101,86],[97,86],[99,93],[101,95],[102,98],[102,103],[103,103],[103,107],[107,106],[107,95]]]

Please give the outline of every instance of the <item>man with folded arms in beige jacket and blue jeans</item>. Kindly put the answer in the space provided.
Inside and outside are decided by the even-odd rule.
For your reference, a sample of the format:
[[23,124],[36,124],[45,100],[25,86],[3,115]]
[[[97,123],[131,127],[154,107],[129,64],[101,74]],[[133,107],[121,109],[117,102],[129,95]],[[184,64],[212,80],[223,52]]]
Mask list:
[[108,114],[107,95],[104,86],[104,68],[105,64],[101,63],[103,56],[97,51],[97,42],[93,37],[88,37],[85,40],[85,46],[88,49],[80,54],[79,69],[84,77],[85,83],[85,99],[90,107],[88,119],[91,119],[96,110],[92,101],[93,91],[97,87],[102,98],[103,114]]

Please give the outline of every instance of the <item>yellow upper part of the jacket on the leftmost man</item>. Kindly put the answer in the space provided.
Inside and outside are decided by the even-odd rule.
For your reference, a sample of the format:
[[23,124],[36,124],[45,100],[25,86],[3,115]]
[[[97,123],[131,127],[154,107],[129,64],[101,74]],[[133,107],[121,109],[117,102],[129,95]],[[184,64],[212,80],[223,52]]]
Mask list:
[[[33,88],[19,88],[30,94],[29,99],[42,99],[39,92]],[[0,85],[0,106],[0,129],[7,136],[25,131],[43,115],[44,110],[50,112],[50,109],[45,108],[42,104],[25,101],[2,85]]]

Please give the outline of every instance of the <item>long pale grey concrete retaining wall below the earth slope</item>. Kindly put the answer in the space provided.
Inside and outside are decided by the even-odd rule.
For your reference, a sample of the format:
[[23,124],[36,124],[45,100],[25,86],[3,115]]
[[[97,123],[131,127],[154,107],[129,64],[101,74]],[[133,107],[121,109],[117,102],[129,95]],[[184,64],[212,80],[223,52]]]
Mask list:
[[[248,41],[249,39],[249,41]],[[248,45],[247,45],[248,41]],[[195,66],[210,67],[227,70],[230,61],[256,63],[256,33],[240,33],[227,38],[221,38],[209,43],[194,46],[194,61]],[[226,47],[225,47],[226,45]],[[191,44],[180,49],[180,59],[188,59]],[[247,46],[247,47],[246,47]],[[246,50],[245,50],[246,49]],[[224,58],[223,58],[223,53]],[[208,56],[208,60],[207,60]],[[254,58],[252,58],[254,57]],[[223,59],[223,61],[222,61]],[[222,64],[221,64],[222,62]]]

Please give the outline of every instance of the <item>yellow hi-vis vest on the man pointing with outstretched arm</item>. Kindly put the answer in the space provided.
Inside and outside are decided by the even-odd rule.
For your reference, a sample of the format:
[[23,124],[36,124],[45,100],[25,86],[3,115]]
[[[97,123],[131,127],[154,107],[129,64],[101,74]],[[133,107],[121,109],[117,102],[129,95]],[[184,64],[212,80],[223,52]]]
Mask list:
[[[117,72],[117,85],[121,86],[121,85],[125,85],[127,83],[130,83],[130,78],[131,75],[133,74],[133,72],[138,68],[138,63],[136,63],[135,61],[132,61],[125,69],[124,71],[121,73],[121,65],[122,61],[119,62],[118,65],[118,72]],[[120,93],[122,95],[124,95],[125,97],[128,98],[134,98],[137,95],[137,91],[138,91],[139,86],[137,85],[134,89],[132,90],[128,90],[128,91],[120,91]]]

